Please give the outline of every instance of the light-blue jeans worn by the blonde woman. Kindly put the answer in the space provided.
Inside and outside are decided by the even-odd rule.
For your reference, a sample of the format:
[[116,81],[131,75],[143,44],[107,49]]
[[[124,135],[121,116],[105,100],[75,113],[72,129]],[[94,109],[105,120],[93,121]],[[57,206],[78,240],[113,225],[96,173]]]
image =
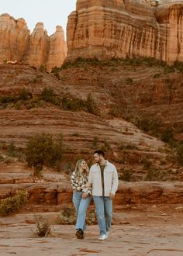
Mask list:
[[82,199],[82,192],[74,192],[72,202],[74,203],[77,212],[77,223],[75,229],[86,230],[86,210],[90,204],[91,196],[87,196],[86,199]]

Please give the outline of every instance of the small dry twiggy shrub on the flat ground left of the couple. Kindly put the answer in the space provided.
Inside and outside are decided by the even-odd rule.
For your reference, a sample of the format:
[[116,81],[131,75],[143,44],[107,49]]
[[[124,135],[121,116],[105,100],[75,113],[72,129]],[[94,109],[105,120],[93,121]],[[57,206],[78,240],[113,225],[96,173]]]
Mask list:
[[36,234],[38,237],[53,237],[54,227],[49,220],[44,220],[42,216],[35,216],[36,219]]

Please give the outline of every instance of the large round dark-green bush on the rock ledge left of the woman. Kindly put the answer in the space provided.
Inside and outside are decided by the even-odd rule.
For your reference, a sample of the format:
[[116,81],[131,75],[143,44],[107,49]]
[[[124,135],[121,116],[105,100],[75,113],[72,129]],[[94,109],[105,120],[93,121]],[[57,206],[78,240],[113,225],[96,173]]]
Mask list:
[[42,170],[43,164],[50,166],[54,165],[56,161],[60,161],[61,154],[61,133],[57,143],[54,143],[50,134],[38,133],[35,136],[30,137],[29,142],[26,146],[27,164],[28,166],[35,168],[38,173]]

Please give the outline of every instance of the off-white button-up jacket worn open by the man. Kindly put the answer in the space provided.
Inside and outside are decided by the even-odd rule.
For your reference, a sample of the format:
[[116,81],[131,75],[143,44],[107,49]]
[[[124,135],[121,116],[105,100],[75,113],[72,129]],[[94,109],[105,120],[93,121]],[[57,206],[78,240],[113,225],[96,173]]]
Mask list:
[[[92,195],[102,196],[102,179],[99,164],[93,164],[90,168],[88,183],[92,185]],[[104,168],[104,195],[109,196],[110,193],[116,193],[118,189],[118,173],[116,167],[105,161]]]

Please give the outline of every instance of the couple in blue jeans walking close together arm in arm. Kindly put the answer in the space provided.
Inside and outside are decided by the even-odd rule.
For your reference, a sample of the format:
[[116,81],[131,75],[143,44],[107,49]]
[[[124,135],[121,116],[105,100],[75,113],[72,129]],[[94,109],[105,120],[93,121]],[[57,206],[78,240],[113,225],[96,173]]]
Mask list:
[[84,238],[86,210],[92,195],[100,230],[99,240],[105,240],[112,223],[112,199],[118,189],[118,174],[116,167],[105,160],[102,150],[95,150],[94,160],[90,171],[84,160],[78,160],[71,175],[73,202],[78,215],[76,237]]

